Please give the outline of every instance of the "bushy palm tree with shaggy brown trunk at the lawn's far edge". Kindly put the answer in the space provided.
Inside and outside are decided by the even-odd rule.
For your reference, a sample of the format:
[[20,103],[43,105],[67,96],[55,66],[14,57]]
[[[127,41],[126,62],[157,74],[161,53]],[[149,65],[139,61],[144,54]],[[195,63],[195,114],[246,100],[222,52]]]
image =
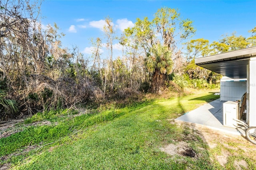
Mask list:
[[149,73],[152,73],[152,92],[161,92],[161,87],[164,87],[164,81],[167,75],[172,73],[171,51],[168,47],[162,46],[160,43],[153,45],[146,58],[146,68]]

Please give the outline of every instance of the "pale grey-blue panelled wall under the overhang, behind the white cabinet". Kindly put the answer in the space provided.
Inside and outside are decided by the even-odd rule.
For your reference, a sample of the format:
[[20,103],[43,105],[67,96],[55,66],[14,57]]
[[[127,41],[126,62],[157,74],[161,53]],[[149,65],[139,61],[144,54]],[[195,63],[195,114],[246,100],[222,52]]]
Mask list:
[[220,81],[220,101],[241,100],[246,86],[246,81]]

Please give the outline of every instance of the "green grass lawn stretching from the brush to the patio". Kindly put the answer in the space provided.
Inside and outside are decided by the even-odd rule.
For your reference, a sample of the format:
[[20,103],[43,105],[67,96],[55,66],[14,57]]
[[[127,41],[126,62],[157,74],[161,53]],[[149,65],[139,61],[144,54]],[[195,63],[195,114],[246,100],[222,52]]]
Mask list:
[[[0,139],[0,167],[176,170],[227,166],[236,169],[235,161],[244,158],[246,165],[240,167],[255,169],[255,160],[245,159],[242,151],[222,165],[216,155],[221,154],[223,143],[216,141],[216,146],[209,147],[200,132],[174,123],[183,113],[219,97],[207,90],[195,92],[82,115],[68,110],[34,115],[19,124],[22,131]],[[34,121],[47,121],[47,124],[34,125]],[[194,156],[161,151],[180,143],[186,144]]]

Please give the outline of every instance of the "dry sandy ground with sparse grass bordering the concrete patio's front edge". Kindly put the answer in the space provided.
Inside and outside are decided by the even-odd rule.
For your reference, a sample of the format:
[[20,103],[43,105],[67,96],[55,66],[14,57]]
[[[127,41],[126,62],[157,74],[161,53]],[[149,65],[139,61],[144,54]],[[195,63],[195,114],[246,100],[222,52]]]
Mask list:
[[[250,158],[251,163],[254,162],[256,166],[256,145],[249,142],[243,136],[227,134],[218,130],[211,130],[203,127],[194,127],[186,125],[191,129],[196,130],[198,135],[208,144],[211,150],[214,151],[221,148],[220,153],[213,154],[215,160],[219,162],[221,166],[225,168],[230,156],[238,156],[241,158]],[[236,169],[248,169],[248,162],[246,160],[234,160],[232,162]]]

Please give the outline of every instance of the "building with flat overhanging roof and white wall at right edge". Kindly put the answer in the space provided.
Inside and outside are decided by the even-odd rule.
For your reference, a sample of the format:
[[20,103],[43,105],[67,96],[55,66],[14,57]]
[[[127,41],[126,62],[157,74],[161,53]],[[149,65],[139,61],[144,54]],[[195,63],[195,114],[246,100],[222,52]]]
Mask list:
[[196,58],[195,63],[231,79],[246,79],[246,122],[256,126],[256,47]]

